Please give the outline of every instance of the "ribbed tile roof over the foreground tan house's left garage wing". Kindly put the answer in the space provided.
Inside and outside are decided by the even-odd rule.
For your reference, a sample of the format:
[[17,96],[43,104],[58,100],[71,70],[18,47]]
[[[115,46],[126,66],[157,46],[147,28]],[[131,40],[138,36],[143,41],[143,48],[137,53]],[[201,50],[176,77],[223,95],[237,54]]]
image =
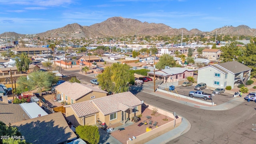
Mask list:
[[[67,107],[67,106],[64,106],[64,107]],[[99,110],[90,101],[84,101],[84,102],[72,104],[70,105],[70,107],[72,108],[72,110],[74,110],[74,112],[79,118],[83,116],[89,116],[91,114],[95,114],[99,112]]]

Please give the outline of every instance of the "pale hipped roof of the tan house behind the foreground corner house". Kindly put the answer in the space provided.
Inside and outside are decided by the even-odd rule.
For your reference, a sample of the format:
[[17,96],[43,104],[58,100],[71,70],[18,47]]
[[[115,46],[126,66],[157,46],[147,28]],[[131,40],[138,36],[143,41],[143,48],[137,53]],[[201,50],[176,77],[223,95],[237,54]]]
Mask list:
[[79,98],[82,98],[83,96],[85,96],[86,94],[89,94],[90,92],[108,93],[99,88],[94,88],[93,86],[90,86],[88,84],[81,84],[76,82],[75,83],[64,82],[56,86],[55,89],[58,92],[66,94],[68,97],[74,100],[78,100]]

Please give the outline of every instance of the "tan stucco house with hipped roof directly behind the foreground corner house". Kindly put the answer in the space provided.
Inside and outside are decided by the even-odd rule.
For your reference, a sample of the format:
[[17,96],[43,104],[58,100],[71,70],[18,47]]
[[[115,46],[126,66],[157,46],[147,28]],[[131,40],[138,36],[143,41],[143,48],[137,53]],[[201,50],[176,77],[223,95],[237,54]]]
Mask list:
[[107,96],[106,91],[89,84],[64,82],[55,87],[57,97],[69,104],[84,102],[95,98]]

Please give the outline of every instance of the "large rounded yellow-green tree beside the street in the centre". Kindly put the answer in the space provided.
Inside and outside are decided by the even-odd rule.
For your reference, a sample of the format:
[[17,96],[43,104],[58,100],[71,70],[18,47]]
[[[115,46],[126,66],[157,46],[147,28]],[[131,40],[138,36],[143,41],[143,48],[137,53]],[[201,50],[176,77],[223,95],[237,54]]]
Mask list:
[[98,75],[98,82],[103,90],[113,93],[127,92],[129,83],[134,82],[134,76],[129,72],[127,64],[114,63],[105,68],[102,74]]

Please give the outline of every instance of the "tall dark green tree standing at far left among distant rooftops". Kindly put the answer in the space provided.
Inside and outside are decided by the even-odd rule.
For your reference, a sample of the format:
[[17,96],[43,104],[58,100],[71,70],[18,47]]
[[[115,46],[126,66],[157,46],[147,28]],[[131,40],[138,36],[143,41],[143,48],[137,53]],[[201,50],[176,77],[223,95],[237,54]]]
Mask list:
[[31,60],[28,57],[28,54],[26,52],[23,52],[20,55],[20,59],[16,58],[15,62],[16,62],[16,67],[18,69],[18,72],[26,72],[29,69],[29,64]]

